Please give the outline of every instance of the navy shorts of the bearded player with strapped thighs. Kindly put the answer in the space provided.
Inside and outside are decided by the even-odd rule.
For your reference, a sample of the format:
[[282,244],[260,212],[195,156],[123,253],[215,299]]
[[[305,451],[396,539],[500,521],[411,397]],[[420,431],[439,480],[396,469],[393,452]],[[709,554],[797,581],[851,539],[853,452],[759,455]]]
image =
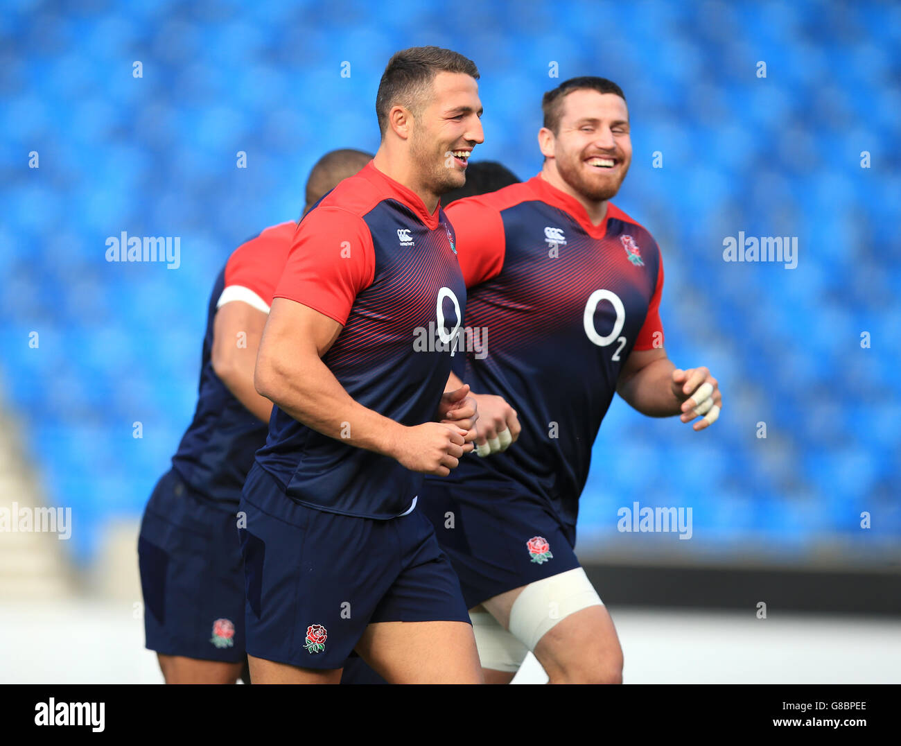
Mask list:
[[426,479],[417,507],[451,558],[468,608],[579,567],[575,527],[514,482]]

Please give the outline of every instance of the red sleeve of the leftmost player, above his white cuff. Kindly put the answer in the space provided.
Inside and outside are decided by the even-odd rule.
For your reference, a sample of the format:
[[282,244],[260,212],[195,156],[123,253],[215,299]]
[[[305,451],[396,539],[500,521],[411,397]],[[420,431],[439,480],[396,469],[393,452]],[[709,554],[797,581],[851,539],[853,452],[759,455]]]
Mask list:
[[[225,265],[224,287],[246,287],[262,303],[271,303],[296,228],[297,223],[293,221],[274,225],[241,244]],[[228,297],[245,300],[234,293]]]

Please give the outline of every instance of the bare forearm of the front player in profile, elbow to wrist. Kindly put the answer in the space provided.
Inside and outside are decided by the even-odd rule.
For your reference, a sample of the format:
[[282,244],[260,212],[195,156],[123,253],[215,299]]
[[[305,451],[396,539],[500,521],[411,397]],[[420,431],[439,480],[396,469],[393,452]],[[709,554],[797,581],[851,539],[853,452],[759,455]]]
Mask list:
[[349,445],[392,456],[396,432],[403,425],[355,401],[318,357],[293,371],[258,361],[257,390],[316,432]]

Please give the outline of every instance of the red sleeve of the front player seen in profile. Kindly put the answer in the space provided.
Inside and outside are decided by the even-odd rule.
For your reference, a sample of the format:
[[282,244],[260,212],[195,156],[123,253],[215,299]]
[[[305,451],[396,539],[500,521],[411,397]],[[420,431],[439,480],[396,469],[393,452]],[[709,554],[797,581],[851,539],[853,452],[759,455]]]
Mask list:
[[375,271],[372,235],[363,219],[340,207],[317,207],[297,227],[274,297],[302,303],[343,326]]

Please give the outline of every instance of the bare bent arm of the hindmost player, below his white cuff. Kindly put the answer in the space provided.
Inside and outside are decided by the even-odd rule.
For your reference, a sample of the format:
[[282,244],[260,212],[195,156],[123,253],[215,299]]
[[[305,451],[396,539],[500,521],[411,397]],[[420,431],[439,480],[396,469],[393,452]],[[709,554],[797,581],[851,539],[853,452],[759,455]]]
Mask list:
[[221,306],[214,317],[210,362],[216,376],[242,405],[268,423],[272,402],[253,387],[253,368],[266,314],[241,301]]

